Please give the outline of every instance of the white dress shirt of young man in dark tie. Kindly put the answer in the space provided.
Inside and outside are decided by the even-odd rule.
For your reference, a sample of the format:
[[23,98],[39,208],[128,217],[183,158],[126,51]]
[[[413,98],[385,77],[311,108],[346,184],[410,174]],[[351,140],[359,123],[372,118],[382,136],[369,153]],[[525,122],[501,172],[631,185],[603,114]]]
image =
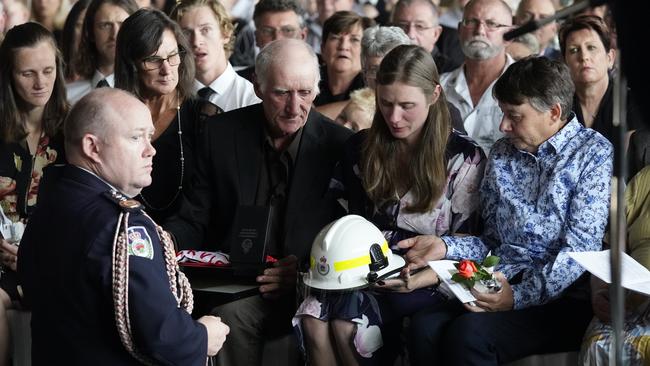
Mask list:
[[[205,87],[200,81],[194,80],[194,91]],[[243,77],[237,75],[230,62],[226,71],[210,84],[214,91],[210,96],[210,102],[224,112],[242,108],[251,104],[257,104],[262,100],[255,95],[253,84]]]

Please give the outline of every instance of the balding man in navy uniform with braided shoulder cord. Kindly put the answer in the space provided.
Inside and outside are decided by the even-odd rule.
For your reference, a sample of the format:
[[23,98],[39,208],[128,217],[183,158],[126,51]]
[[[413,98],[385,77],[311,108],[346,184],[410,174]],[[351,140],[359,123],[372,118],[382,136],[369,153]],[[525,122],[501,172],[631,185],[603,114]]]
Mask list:
[[191,318],[169,237],[130,198],[151,183],[149,110],[98,89],[64,132],[69,164],[46,173],[19,250],[33,364],[205,366],[229,328]]

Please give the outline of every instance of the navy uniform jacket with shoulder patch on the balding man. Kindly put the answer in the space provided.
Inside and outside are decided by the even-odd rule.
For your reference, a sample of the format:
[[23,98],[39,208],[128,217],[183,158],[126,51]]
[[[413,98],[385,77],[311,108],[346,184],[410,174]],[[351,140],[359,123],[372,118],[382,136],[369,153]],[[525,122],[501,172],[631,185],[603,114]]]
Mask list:
[[[49,168],[41,183],[18,264],[32,308],[35,366],[140,364],[122,346],[115,325],[111,262],[122,209],[110,191],[71,165]],[[130,214],[129,228],[151,244],[144,249],[152,249],[129,256],[135,346],[162,365],[205,366],[205,327],[176,304],[153,222],[138,210]]]

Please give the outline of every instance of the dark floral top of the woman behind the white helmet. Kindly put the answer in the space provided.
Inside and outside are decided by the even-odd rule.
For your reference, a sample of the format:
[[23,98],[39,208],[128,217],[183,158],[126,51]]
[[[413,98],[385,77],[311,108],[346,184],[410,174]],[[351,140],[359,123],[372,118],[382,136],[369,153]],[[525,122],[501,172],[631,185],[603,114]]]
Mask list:
[[340,170],[330,184],[350,214],[361,215],[379,227],[391,248],[402,240],[420,234],[474,233],[477,220],[478,194],[485,154],[469,137],[453,131],[447,141],[447,185],[433,210],[403,210],[413,200],[409,191],[399,201],[376,207],[361,184],[359,161],[361,144],[367,131],[354,135],[346,145]]

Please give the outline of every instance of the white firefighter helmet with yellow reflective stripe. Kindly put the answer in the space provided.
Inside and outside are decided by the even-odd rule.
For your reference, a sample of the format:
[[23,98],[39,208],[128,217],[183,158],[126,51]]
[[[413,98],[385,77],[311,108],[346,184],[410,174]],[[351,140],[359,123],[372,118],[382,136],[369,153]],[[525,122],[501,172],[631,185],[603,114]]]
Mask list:
[[314,239],[303,282],[320,290],[353,290],[402,267],[404,259],[393,254],[375,225],[347,215],[325,226]]

